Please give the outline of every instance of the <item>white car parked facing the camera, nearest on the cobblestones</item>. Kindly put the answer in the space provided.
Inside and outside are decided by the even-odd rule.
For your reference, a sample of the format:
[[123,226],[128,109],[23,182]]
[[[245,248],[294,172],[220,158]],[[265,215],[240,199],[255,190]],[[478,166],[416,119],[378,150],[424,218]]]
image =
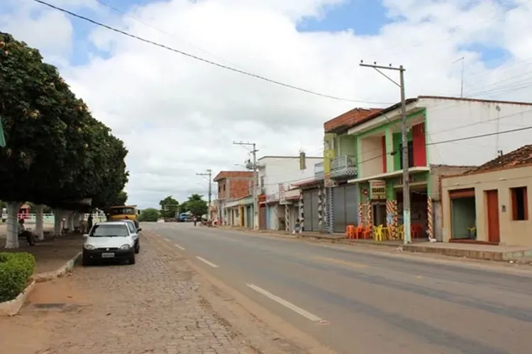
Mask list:
[[135,236],[123,221],[99,222],[84,234],[82,265],[111,259],[135,264]]

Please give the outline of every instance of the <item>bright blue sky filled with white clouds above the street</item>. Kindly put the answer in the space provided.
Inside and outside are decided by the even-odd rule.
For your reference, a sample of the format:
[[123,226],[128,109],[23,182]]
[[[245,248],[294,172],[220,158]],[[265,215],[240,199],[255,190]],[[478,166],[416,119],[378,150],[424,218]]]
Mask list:
[[[323,122],[399,101],[360,60],[402,64],[406,96],[530,101],[532,0],[48,0],[216,67],[33,0],[0,1],[0,30],[37,47],[129,150],[128,202],[206,195],[196,173],[258,156],[322,154]],[[463,58],[463,59],[461,59]],[[393,73],[390,73],[393,75]]]

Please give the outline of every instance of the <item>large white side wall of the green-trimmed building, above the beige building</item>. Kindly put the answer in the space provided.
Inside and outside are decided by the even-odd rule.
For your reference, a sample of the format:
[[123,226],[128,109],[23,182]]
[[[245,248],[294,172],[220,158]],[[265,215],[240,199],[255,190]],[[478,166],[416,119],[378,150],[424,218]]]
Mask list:
[[[532,105],[422,98],[418,106],[426,107],[427,111],[427,158],[431,164],[481,165],[495,159],[498,149],[506,154],[532,144],[532,130],[495,135],[531,126]],[[484,134],[493,135],[434,144]]]

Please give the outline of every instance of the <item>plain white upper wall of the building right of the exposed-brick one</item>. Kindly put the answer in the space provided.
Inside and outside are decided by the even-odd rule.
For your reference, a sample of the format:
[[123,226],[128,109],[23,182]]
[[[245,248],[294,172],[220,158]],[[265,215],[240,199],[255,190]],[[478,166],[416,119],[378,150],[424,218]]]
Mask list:
[[306,169],[299,170],[299,156],[263,157],[257,161],[259,166],[259,183],[264,176],[266,195],[277,195],[279,198],[279,183],[297,183],[314,177],[314,165],[323,162],[323,157],[306,157]]

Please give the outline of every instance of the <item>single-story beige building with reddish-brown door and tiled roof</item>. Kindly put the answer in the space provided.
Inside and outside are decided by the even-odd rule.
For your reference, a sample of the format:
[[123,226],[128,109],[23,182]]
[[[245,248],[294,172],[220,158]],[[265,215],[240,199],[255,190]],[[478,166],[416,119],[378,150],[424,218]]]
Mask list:
[[532,145],[441,178],[443,241],[532,246]]

